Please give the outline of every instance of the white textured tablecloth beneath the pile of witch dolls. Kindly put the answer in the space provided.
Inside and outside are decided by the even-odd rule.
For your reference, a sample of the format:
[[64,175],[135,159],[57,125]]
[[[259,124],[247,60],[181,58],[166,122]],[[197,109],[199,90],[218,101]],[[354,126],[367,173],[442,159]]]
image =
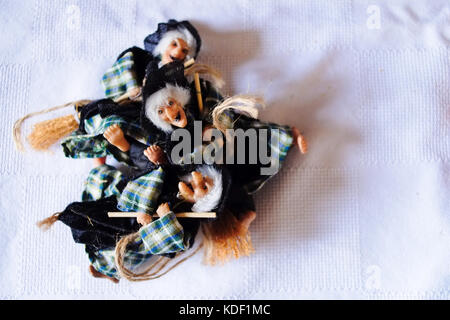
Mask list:
[[[1,298],[449,298],[448,1],[1,7]],[[115,57],[169,18],[199,29],[199,61],[223,71],[227,93],[263,94],[262,118],[297,126],[310,152],[291,151],[257,195],[254,255],[223,267],[198,255],[161,279],[114,285],[90,277],[64,225],[35,226],[80,198],[91,161],[19,154],[12,124],[101,98]]]

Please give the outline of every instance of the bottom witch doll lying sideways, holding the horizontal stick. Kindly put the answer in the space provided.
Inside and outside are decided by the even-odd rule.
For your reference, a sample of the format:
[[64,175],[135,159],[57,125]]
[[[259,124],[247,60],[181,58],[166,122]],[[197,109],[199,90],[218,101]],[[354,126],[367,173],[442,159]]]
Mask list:
[[[115,282],[119,273],[129,275],[130,268],[137,269],[154,255],[173,258],[174,253],[192,247],[200,224],[205,233],[206,263],[225,262],[252,252],[248,227],[254,219],[254,204],[239,185],[233,184],[226,168],[176,167],[166,171],[162,179],[158,179],[160,172],[154,172],[151,179],[137,184],[130,181],[123,188],[127,179],[118,170],[106,165],[94,168],[83,192],[84,201],[70,204],[41,225],[49,226],[57,220],[68,225],[75,242],[86,245],[91,274]],[[137,188],[146,181],[151,183],[141,190],[154,190],[143,194]],[[133,196],[133,192],[140,197]],[[157,197],[160,219],[153,221]],[[108,217],[109,211],[123,210],[124,204],[132,205],[125,210],[148,210],[139,213],[137,219]],[[172,213],[161,217],[161,211]],[[177,221],[173,212],[180,211],[214,211],[217,218]],[[137,222],[144,227],[139,229]],[[122,252],[119,256],[118,249]]]

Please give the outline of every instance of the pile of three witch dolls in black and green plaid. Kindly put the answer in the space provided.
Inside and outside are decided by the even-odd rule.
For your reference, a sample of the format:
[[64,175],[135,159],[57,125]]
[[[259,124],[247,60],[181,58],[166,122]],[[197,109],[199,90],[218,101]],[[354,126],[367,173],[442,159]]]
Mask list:
[[[144,45],[122,52],[106,71],[105,98],[76,104],[78,127],[61,145],[66,157],[93,158],[94,167],[81,201],[39,223],[69,226],[75,242],[85,245],[90,273],[113,282],[160,277],[200,248],[208,264],[253,251],[253,194],[276,172],[261,174],[264,164],[248,157],[232,164],[186,161],[219,139],[204,139],[183,161],[174,161],[176,130],[193,133],[195,121],[201,121],[203,138],[213,129],[265,130],[270,155],[279,164],[292,146],[301,153],[307,147],[295,127],[257,119],[261,99],[225,99],[214,69],[189,65],[201,38],[188,21],[159,23]],[[106,164],[107,157],[127,170]]]

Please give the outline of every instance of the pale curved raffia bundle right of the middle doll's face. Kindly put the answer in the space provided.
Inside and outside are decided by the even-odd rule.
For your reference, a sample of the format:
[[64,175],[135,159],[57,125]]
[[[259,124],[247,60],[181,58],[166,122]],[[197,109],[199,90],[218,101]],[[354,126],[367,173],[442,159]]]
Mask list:
[[212,112],[213,125],[223,133],[226,133],[226,129],[231,128],[221,121],[221,115],[224,111],[235,110],[238,113],[257,119],[259,114],[258,107],[265,107],[264,99],[261,97],[245,94],[230,97],[214,108]]

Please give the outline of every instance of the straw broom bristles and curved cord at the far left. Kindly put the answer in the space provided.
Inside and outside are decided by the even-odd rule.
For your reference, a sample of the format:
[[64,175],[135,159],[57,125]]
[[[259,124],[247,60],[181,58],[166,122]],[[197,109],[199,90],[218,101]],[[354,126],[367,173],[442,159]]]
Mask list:
[[[69,103],[66,103],[66,104],[63,104],[63,105],[60,105],[60,106],[44,109],[44,110],[41,110],[41,111],[31,112],[31,113],[25,115],[24,117],[18,119],[14,123],[14,126],[13,126],[13,139],[14,139],[14,144],[16,146],[16,149],[21,151],[21,152],[25,151],[25,147],[24,147],[24,145],[22,143],[22,124],[25,122],[25,120],[27,120],[29,118],[32,118],[34,116],[40,115],[40,114],[45,114],[45,113],[49,113],[49,112],[52,112],[52,111],[55,111],[55,110],[67,108],[69,106],[75,106],[75,108],[77,109],[77,112],[78,112],[78,109],[80,107],[88,104],[89,102],[91,102],[91,100],[73,101],[73,102],[69,102]],[[64,117],[61,117],[61,118],[64,118]],[[73,122],[75,120],[74,117],[72,117],[73,120],[71,118],[64,118],[64,119],[61,119],[61,118],[58,118],[59,120],[58,119],[53,119],[53,121],[55,121],[53,124],[52,123],[47,123],[47,125],[51,125],[52,126],[52,128],[49,128],[50,130],[45,129],[44,126],[39,126],[39,123],[37,124],[38,128],[40,128],[40,129],[38,129],[36,132],[34,132],[34,134],[32,133],[30,135],[31,136],[31,140],[33,141],[33,144],[35,145],[35,147],[37,147],[36,150],[47,150],[48,147],[51,144],[53,144],[53,143],[55,143],[56,141],[59,140],[59,138],[56,139],[56,140],[55,140],[55,138],[52,138],[51,132],[53,130],[54,130],[53,134],[55,134],[55,135],[56,134],[58,134],[58,135],[63,134],[63,136],[68,134],[68,133],[70,133],[70,132],[72,132],[74,130],[74,129],[72,129],[74,127],[74,122]],[[59,127],[58,124],[57,124],[60,120],[62,120],[64,122],[62,124],[62,126],[63,126],[62,128]],[[52,121],[52,120],[50,120],[50,121]],[[41,122],[41,123],[43,123],[43,122]],[[66,133],[69,129],[65,130],[64,129],[64,125],[69,125],[70,129],[72,131]],[[77,126],[78,126],[78,124],[77,124]],[[39,131],[41,133],[39,133]],[[61,136],[61,138],[63,136]],[[50,145],[48,145],[50,143],[50,141],[52,141],[52,140],[55,140],[55,141],[52,142]]]

